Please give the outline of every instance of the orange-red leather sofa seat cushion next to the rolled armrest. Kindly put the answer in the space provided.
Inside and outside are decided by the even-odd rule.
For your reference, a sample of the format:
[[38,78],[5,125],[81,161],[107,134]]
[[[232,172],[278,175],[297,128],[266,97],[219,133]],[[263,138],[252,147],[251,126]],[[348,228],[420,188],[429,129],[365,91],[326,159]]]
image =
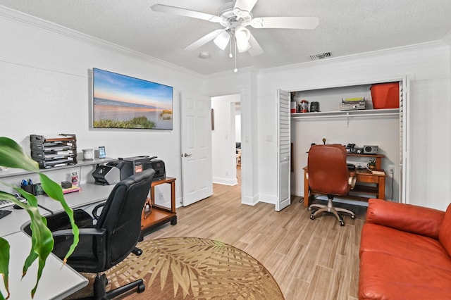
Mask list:
[[365,224],[362,228],[359,251],[361,256],[365,251],[380,252],[390,257],[402,258],[406,263],[420,262],[451,273],[451,258],[446,249],[437,239],[424,235],[414,235],[371,223]]

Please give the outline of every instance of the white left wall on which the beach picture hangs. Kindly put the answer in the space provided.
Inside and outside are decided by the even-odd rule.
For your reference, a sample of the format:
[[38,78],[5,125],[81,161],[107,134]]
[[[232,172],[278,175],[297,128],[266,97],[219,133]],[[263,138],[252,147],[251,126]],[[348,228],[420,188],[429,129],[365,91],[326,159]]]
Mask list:
[[[14,20],[5,16],[11,12],[4,13],[0,16],[1,135],[15,139],[27,151],[30,134],[75,133],[79,151],[106,146],[109,157],[158,156],[166,163],[166,175],[179,180],[175,185],[179,204],[179,94],[200,87],[199,77],[77,32],[39,20],[21,22],[23,15],[12,15]],[[173,86],[173,130],[93,130],[89,125],[92,68]]]

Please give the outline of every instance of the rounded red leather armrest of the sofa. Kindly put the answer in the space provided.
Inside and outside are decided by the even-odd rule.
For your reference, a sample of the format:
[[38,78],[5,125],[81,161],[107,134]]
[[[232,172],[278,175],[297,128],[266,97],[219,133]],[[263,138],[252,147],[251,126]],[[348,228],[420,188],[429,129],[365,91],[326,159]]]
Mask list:
[[444,211],[381,199],[369,199],[368,204],[366,223],[438,239],[440,226],[445,217]]

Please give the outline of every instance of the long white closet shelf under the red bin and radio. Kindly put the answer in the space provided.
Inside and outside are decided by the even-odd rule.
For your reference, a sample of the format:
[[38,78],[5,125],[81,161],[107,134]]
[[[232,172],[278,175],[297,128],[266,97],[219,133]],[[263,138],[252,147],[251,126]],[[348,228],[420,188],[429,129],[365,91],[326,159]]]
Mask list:
[[292,119],[315,119],[315,118],[349,118],[400,115],[400,108],[366,109],[359,111],[321,111],[317,113],[292,113]]

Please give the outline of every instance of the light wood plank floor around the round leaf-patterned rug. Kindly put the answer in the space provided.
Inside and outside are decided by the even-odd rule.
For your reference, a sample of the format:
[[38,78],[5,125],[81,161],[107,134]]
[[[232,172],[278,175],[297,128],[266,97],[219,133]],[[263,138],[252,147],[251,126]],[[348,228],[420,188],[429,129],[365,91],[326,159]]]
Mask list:
[[280,212],[273,204],[241,204],[240,189],[214,185],[213,196],[177,209],[177,225],[167,223],[144,239],[202,237],[236,246],[265,265],[288,300],[357,299],[366,208],[351,206],[357,218],[343,214],[342,227],[330,214],[310,220],[296,196]]

